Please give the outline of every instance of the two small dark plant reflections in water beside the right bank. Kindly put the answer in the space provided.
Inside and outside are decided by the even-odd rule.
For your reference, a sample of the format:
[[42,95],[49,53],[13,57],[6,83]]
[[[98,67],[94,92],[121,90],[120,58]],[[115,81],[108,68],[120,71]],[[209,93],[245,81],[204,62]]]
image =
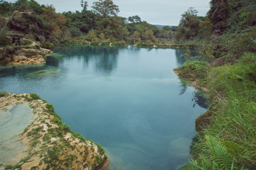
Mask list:
[[[181,86],[181,89],[179,90],[180,91],[179,95],[182,95],[185,93],[187,89],[186,81],[181,80],[180,86]],[[193,91],[192,101],[194,102],[193,107],[195,107],[196,104],[198,104],[198,106],[201,106],[202,108],[208,108],[208,100],[202,91],[198,91],[198,90]]]

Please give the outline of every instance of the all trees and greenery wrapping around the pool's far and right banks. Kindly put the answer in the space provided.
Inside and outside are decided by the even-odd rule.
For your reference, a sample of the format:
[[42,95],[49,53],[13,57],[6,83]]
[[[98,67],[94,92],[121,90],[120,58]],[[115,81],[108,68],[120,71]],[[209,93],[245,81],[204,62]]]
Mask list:
[[[206,16],[195,8],[177,27],[157,28],[139,16],[118,16],[112,0],[87,1],[75,12],[18,0],[0,4],[0,45],[21,36],[42,47],[60,43],[187,48],[178,75],[208,89],[209,110],[196,120],[198,136],[181,169],[256,169],[256,1],[211,0]],[[106,10],[107,9],[107,10]],[[191,57],[188,48],[200,53]],[[197,57],[198,58],[198,57]]]

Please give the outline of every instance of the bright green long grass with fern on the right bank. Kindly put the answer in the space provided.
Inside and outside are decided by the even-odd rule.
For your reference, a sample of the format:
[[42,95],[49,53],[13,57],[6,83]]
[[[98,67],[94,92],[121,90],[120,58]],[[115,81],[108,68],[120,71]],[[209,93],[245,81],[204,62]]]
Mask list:
[[207,75],[212,121],[181,169],[256,169],[256,55]]

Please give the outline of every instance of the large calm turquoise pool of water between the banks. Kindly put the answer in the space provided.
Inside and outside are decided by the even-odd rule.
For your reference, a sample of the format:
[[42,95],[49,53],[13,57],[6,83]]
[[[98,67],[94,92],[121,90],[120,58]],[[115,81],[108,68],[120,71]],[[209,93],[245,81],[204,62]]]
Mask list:
[[2,68],[0,90],[52,103],[72,130],[105,147],[112,168],[176,169],[191,158],[206,103],[172,71],[185,62],[181,50],[63,45],[55,53],[38,67]]

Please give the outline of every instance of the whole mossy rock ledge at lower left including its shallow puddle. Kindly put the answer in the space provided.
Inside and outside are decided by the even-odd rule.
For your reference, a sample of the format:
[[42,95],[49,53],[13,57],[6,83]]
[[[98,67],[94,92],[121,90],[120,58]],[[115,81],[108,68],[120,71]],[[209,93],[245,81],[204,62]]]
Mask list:
[[[15,136],[16,143],[11,146],[21,147],[19,150],[15,149],[16,152],[12,152],[9,159],[0,157],[0,169],[68,167],[70,169],[106,170],[109,166],[110,160],[104,148],[91,140],[85,140],[70,130],[68,125],[62,123],[56,115],[53,106],[39,99],[36,94],[6,93],[0,97],[0,110],[1,118],[4,118],[0,122],[1,131],[3,131],[0,133],[0,142],[4,143],[6,139],[14,140],[13,136]],[[26,117],[30,118],[30,121]],[[11,123],[14,122],[19,126],[15,125],[16,128],[11,129]],[[31,124],[28,125],[29,123]],[[6,130],[8,127],[9,130]],[[3,147],[3,145],[0,147],[0,153],[4,156],[14,151],[13,148]]]

